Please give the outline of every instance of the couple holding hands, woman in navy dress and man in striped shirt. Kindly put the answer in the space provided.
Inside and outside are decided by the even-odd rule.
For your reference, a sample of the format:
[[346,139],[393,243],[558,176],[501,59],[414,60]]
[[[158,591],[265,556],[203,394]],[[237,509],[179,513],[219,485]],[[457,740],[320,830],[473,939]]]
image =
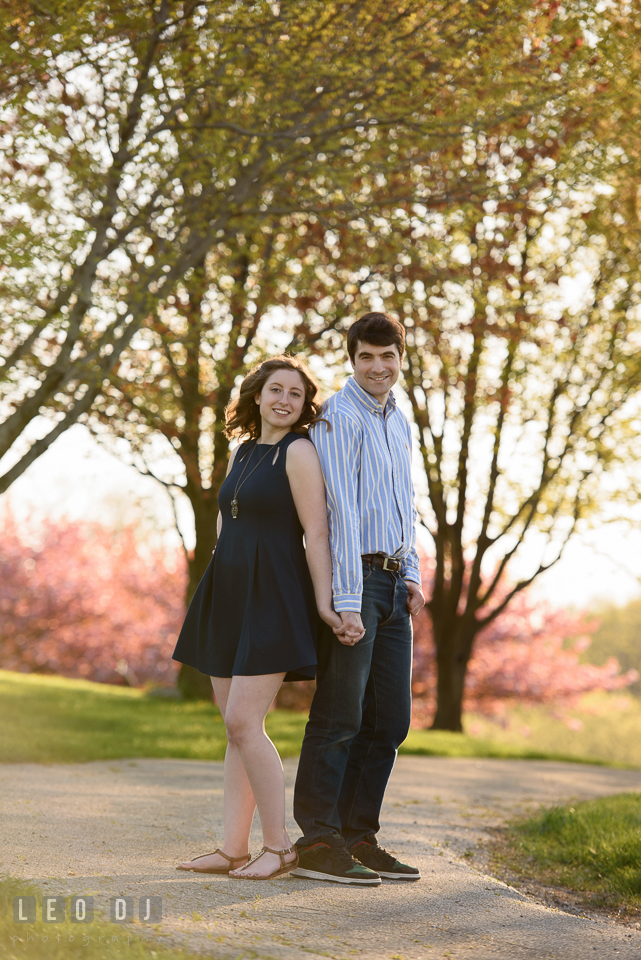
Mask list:
[[[260,364],[228,408],[227,434],[247,439],[230,458],[218,543],[174,652],[211,677],[225,721],[224,839],[178,869],[359,886],[420,878],[376,839],[409,730],[410,618],[425,602],[412,438],[391,392],[404,347],[398,321],[366,314],[347,333],[353,376],[322,409],[293,357]],[[264,720],[283,680],[314,676],[292,844]],[[264,846],[250,859],[256,807]]]

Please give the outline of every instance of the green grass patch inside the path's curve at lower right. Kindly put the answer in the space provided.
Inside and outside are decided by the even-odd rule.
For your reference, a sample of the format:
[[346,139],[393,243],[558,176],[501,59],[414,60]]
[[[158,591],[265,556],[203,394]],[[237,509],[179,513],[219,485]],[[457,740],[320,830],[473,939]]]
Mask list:
[[610,910],[641,908],[641,793],[543,810],[509,825],[497,864],[525,880],[587,894]]

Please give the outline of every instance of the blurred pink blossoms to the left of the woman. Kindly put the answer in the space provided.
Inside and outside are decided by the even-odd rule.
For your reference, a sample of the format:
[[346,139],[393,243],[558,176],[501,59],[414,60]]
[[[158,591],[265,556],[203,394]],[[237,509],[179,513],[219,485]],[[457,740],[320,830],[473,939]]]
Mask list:
[[131,526],[50,523],[37,548],[11,515],[3,526],[1,667],[173,685],[187,576],[178,551],[142,549]]

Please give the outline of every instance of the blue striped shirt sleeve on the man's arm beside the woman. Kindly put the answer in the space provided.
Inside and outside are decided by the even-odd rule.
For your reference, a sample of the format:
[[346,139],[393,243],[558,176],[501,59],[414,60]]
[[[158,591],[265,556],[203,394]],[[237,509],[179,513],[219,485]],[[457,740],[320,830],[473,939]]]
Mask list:
[[358,503],[361,431],[340,414],[324,414],[310,428],[325,479],[329,545],[332,554],[332,595],[337,613],[360,613],[363,594],[361,520]]

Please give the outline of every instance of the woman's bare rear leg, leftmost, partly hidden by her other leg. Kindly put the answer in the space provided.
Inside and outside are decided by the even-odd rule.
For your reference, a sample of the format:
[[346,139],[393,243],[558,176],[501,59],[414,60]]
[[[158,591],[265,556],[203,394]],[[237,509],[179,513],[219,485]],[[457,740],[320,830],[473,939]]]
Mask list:
[[[224,720],[232,678],[212,677],[211,682],[216,695],[216,702]],[[224,839],[220,848],[228,857],[242,857],[247,853],[255,809],[256,801],[240,754],[234,744],[228,743],[225,752],[223,796]],[[190,863],[181,864],[182,867],[189,865]],[[209,870],[217,867],[229,867],[229,862],[219,854],[214,854],[213,856],[198,857],[195,862],[191,862],[191,865],[195,865],[201,870]]]

